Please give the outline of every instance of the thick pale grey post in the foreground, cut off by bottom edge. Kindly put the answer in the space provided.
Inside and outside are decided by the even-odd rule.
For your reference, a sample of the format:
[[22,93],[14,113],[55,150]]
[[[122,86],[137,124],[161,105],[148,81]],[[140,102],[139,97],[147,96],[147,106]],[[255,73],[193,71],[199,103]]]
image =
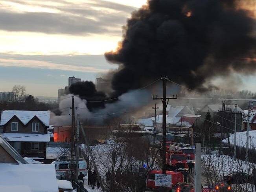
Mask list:
[[201,143],[195,143],[195,192],[202,192]]

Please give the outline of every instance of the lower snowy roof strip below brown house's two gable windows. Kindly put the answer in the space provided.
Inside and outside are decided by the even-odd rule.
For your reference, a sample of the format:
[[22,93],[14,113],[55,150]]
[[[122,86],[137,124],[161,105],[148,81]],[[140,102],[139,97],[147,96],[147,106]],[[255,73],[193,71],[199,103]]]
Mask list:
[[40,133],[2,133],[7,141],[50,142],[50,134]]

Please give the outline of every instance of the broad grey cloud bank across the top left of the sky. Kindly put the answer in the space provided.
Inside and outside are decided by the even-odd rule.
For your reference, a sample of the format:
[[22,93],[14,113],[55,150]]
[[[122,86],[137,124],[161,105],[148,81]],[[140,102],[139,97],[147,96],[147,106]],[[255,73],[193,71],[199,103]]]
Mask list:
[[[11,2],[11,1],[9,1]],[[126,17],[135,7],[94,0],[87,3],[67,3],[63,5],[44,5],[41,1],[12,1],[14,5],[2,6],[0,9],[0,29],[5,31],[29,31],[47,34],[76,34],[91,33],[120,35],[121,26]],[[15,8],[15,5],[17,7]],[[57,13],[20,11],[18,5],[33,6],[45,9],[55,9]],[[12,9],[10,9],[10,7]],[[24,8],[27,10],[28,8]],[[8,11],[7,11],[8,10]],[[11,11],[10,11],[11,10]]]

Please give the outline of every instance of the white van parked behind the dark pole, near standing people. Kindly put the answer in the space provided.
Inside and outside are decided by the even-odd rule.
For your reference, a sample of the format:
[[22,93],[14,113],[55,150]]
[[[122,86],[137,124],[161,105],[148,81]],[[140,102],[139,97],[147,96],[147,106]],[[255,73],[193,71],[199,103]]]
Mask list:
[[[76,170],[76,160],[71,159],[56,159],[52,164],[55,164],[56,174],[59,174],[61,178],[71,179],[72,172]],[[85,176],[87,175],[87,165],[85,158],[81,157],[78,161],[78,174],[82,172]]]

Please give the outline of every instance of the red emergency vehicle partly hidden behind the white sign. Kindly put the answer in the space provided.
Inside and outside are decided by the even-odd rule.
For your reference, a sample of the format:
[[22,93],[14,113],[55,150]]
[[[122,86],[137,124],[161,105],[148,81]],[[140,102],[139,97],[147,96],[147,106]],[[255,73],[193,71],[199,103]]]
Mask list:
[[[155,174],[162,174],[162,170],[152,170],[147,175],[147,188],[157,189],[159,187],[155,186]],[[183,182],[183,175],[180,172],[166,171],[166,174],[171,175],[171,184],[173,188],[178,182]]]

